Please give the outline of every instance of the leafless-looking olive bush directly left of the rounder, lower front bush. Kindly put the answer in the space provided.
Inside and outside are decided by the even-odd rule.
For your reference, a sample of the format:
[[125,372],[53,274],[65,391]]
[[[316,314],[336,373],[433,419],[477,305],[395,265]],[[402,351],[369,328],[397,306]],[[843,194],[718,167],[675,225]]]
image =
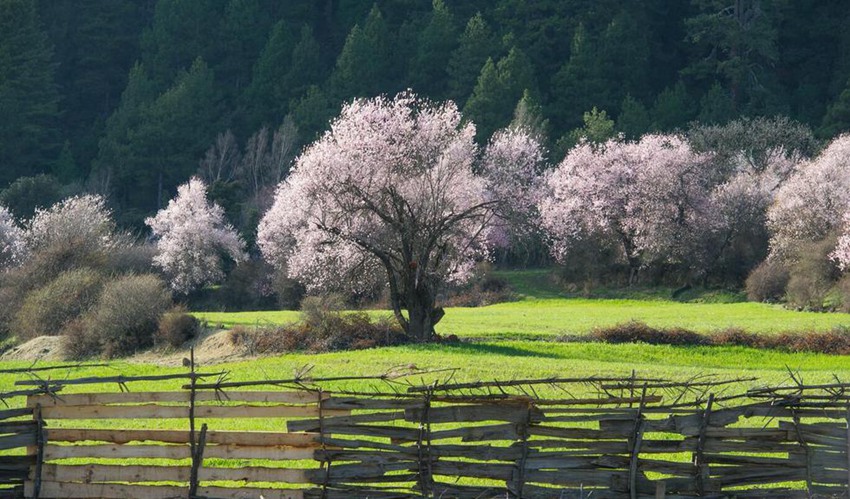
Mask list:
[[69,270],[27,294],[15,314],[18,339],[59,335],[71,321],[91,307],[103,286],[103,277],[92,269]]

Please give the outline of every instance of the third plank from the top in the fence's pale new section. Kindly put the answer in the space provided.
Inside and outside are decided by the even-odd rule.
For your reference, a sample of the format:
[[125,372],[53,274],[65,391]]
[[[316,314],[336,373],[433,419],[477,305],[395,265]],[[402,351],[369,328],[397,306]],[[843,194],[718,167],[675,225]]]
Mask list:
[[[129,442],[189,443],[189,432],[184,430],[91,430],[86,428],[47,428],[50,442],[99,441],[114,444]],[[319,435],[313,433],[278,433],[263,431],[207,432],[207,443],[231,445],[288,445],[292,447],[319,447]]]

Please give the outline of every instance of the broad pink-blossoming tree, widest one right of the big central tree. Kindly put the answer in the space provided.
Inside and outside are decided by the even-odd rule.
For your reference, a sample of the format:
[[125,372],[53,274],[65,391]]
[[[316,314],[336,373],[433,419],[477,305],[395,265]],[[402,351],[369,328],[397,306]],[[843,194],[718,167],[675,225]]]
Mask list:
[[647,261],[696,265],[712,230],[709,156],[677,135],[574,147],[546,180],[541,222],[558,259],[590,234],[615,241],[632,278]]

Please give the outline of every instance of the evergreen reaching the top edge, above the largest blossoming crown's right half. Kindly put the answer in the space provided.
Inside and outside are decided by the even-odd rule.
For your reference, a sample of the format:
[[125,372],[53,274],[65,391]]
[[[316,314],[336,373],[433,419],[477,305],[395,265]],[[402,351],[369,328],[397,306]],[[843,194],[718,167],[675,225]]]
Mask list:
[[448,94],[446,66],[457,45],[454,19],[443,0],[434,0],[430,21],[419,33],[416,56],[410,69],[413,88],[432,99]]

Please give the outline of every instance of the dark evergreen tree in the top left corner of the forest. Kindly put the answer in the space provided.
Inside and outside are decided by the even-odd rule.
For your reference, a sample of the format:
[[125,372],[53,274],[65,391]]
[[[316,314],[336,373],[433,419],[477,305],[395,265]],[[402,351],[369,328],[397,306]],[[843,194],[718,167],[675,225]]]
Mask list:
[[0,0],[0,186],[59,154],[53,51],[35,2]]

